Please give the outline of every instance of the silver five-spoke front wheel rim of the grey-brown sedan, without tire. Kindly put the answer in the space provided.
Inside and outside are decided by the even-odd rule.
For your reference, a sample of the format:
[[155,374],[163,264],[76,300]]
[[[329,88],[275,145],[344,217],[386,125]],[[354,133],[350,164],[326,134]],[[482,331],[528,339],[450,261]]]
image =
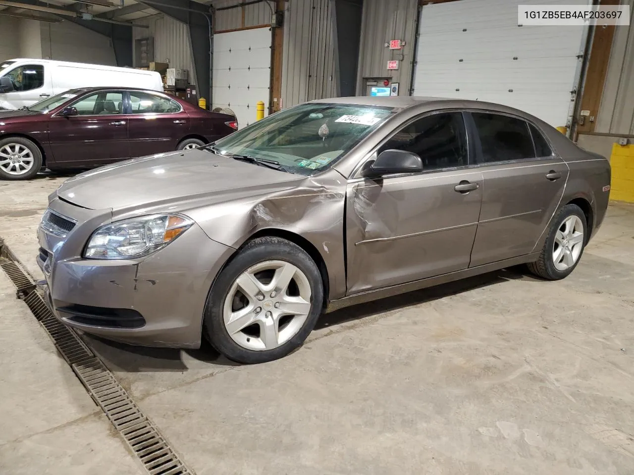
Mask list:
[[311,310],[311,286],[295,265],[269,260],[245,270],[224,300],[224,327],[247,350],[273,350],[302,328]]

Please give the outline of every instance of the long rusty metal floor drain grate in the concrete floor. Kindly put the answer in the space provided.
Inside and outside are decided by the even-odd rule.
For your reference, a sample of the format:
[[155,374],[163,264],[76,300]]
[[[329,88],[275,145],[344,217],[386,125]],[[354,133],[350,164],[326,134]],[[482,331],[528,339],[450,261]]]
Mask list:
[[6,248],[0,267],[13,281],[31,312],[53,339],[63,358],[112,425],[136,453],[150,475],[193,475],[174,453],[159,430],[133,402],[112,372],[77,336],[74,330],[58,322],[36,290],[33,279]]

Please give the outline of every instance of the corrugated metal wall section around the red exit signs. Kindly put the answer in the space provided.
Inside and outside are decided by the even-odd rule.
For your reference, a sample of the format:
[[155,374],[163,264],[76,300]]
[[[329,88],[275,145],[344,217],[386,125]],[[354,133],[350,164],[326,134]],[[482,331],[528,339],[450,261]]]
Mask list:
[[[364,77],[391,77],[399,83],[401,96],[409,94],[411,65],[415,58],[417,0],[364,0],[357,94],[365,96]],[[385,42],[406,42],[401,50],[385,47]],[[399,70],[388,71],[387,61],[400,60]]]

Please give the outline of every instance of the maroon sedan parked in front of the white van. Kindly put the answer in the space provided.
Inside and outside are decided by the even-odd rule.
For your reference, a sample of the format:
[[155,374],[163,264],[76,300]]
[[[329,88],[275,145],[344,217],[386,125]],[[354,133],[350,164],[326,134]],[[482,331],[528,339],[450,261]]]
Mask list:
[[0,111],[0,178],[26,180],[41,168],[92,168],[126,158],[195,148],[238,128],[157,91],[70,89],[16,111]]

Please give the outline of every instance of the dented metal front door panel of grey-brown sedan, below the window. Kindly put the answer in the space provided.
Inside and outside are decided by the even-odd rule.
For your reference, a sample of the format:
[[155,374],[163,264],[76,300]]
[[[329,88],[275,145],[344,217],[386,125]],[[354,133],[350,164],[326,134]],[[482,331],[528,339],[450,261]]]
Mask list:
[[[460,193],[468,181],[477,189]],[[469,267],[482,174],[453,170],[348,184],[348,294]]]

